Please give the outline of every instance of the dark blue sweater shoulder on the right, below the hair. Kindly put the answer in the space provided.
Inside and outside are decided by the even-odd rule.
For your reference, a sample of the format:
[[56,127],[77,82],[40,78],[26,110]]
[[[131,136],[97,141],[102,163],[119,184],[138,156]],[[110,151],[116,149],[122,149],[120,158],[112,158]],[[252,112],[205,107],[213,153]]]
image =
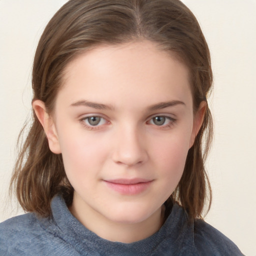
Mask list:
[[229,238],[202,219],[194,220],[194,245],[198,255],[243,255]]

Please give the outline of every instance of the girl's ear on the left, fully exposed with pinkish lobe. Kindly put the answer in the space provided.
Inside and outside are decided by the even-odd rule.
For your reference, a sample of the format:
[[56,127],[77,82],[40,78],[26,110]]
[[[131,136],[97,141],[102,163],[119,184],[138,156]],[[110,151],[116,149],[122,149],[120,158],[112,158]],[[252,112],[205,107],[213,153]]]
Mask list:
[[44,102],[39,99],[33,100],[32,107],[47,136],[50,150],[55,154],[61,153],[56,127],[51,116],[46,112]]

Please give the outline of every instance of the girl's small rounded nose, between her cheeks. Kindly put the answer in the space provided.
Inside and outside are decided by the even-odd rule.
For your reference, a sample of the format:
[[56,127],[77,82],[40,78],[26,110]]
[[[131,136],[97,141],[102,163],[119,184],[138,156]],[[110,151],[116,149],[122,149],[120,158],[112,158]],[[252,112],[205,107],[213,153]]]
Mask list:
[[112,159],[118,164],[132,166],[148,158],[146,141],[138,128],[123,127],[115,133]]

